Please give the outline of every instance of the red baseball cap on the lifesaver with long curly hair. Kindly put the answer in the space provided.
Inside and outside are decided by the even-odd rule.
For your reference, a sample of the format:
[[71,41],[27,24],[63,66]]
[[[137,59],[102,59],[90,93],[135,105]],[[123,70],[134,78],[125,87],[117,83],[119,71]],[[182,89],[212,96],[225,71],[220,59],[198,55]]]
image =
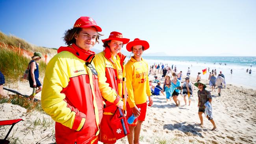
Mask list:
[[80,17],[74,24],[74,28],[89,28],[92,26],[95,27],[97,31],[102,31],[101,28],[97,26],[95,20],[91,17]]

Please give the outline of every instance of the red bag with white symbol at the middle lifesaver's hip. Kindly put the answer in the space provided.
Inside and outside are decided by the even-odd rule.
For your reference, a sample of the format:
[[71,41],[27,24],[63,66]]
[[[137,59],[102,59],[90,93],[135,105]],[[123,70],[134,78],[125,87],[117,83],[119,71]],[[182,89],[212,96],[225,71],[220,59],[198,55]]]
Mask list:
[[117,108],[110,122],[112,131],[117,140],[125,137],[130,133],[126,117],[124,116],[120,108]]

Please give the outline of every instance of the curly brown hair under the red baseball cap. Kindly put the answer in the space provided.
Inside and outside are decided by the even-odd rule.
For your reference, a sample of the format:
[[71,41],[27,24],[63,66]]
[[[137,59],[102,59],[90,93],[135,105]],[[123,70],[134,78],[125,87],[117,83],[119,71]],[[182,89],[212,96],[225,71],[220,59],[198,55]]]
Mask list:
[[[82,31],[82,28],[71,28],[69,30],[66,30],[63,37],[65,44],[71,45],[72,43],[76,43],[75,35],[78,35],[80,31]],[[102,36],[102,34],[97,32],[96,42],[98,43],[99,43],[100,36]]]

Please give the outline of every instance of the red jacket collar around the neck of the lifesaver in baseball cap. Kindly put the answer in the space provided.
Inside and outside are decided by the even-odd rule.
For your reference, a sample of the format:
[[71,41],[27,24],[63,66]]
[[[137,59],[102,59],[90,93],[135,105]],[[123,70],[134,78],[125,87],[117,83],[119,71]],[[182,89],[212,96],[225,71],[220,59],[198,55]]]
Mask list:
[[68,51],[71,52],[72,54],[76,55],[79,59],[82,59],[83,61],[91,63],[93,58],[95,57],[95,52],[90,51],[90,50],[82,50],[76,44],[71,44],[70,46],[61,46],[58,49],[58,53],[63,52],[63,51]]

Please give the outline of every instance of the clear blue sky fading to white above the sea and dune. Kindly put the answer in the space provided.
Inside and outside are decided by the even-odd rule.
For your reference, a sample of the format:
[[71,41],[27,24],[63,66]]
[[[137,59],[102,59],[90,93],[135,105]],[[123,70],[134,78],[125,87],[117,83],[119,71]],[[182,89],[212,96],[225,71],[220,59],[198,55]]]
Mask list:
[[145,53],[256,56],[256,0],[0,0],[0,31],[37,46],[64,46],[81,16],[93,17],[102,39],[119,31],[148,41]]

